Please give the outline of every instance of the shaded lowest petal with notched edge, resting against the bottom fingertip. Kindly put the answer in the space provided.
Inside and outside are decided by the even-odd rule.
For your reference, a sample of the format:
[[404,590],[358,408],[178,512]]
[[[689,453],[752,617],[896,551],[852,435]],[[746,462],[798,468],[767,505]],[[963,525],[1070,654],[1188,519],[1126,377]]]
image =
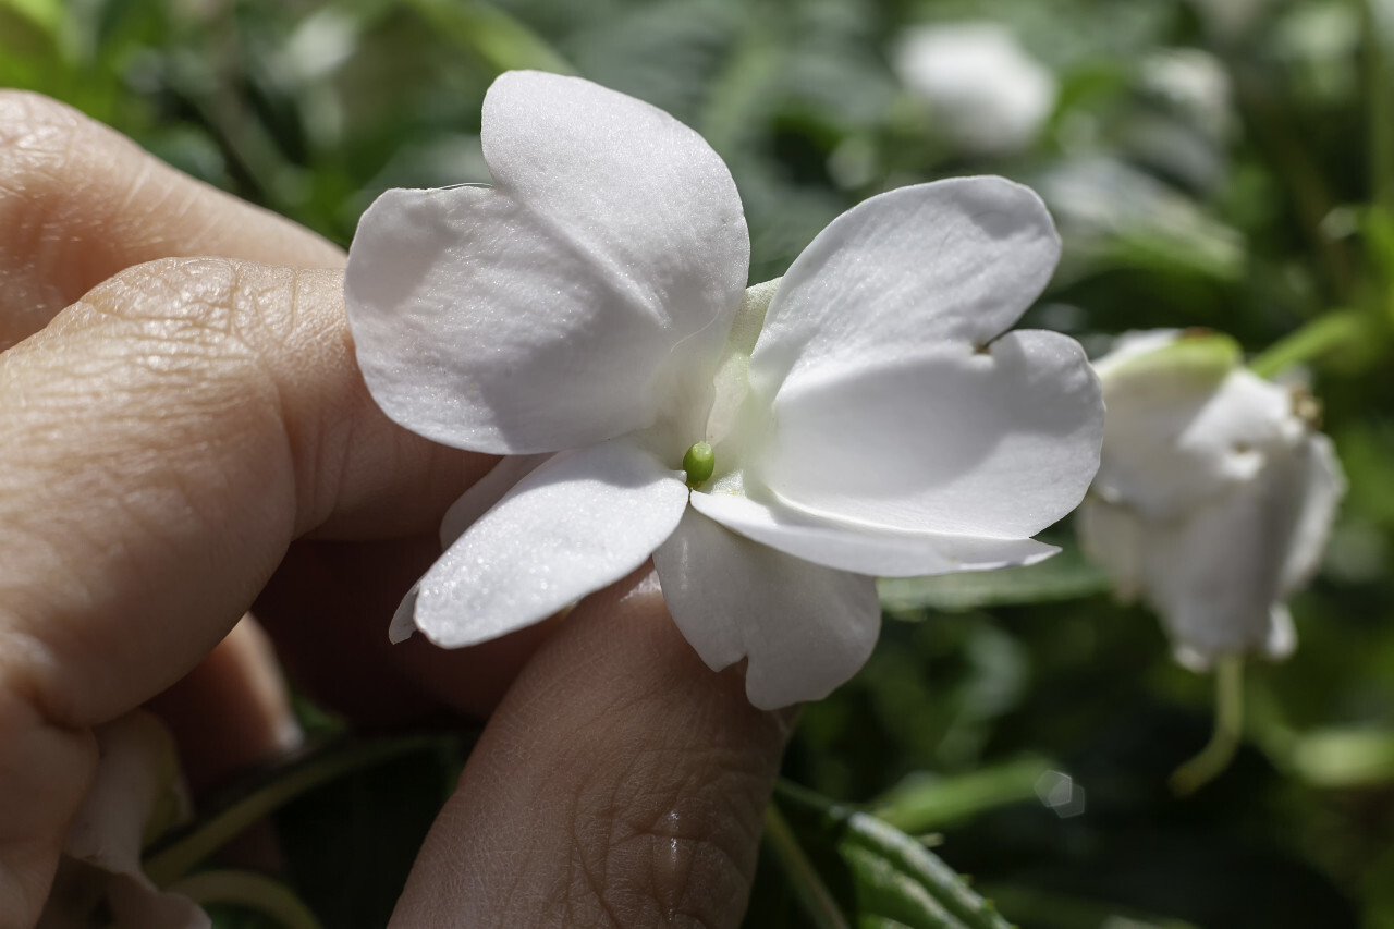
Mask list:
[[763,710],[831,693],[881,629],[870,577],[790,558],[691,509],[654,565],[683,636],[712,670],[747,658],[746,695]]

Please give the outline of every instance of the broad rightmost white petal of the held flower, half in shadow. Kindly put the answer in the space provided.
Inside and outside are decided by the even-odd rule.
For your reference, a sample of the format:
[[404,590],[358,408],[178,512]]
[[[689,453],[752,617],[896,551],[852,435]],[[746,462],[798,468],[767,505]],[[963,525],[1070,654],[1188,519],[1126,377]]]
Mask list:
[[[1079,345],[1009,332],[901,364],[795,371],[749,471],[782,504],[878,527],[1022,538],[1083,498],[1103,403]],[[747,477],[749,480],[749,477]]]

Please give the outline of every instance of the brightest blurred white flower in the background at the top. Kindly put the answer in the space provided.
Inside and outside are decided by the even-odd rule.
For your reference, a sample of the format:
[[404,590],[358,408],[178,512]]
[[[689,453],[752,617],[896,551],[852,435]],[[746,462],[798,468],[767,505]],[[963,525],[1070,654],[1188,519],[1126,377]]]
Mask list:
[[1055,75],[998,22],[916,27],[892,61],[901,81],[930,105],[935,128],[973,153],[1026,148],[1055,109]]

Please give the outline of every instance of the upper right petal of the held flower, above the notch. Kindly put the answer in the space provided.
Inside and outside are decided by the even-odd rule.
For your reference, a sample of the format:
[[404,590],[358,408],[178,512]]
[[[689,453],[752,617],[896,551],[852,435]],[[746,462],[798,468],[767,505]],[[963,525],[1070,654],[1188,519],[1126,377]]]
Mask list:
[[1001,177],[902,187],[853,206],[803,250],[750,358],[767,400],[786,378],[899,367],[944,343],[983,346],[1050,282],[1059,237],[1040,198]]

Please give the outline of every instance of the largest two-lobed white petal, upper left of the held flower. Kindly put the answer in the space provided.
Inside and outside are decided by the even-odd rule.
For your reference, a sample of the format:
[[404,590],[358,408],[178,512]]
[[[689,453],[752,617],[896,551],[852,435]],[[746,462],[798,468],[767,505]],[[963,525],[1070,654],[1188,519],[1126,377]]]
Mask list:
[[647,103],[530,71],[489,88],[482,142],[495,187],[388,191],[360,222],[344,296],[374,399],[482,452],[590,445],[679,396],[700,435],[750,255],[726,166]]

